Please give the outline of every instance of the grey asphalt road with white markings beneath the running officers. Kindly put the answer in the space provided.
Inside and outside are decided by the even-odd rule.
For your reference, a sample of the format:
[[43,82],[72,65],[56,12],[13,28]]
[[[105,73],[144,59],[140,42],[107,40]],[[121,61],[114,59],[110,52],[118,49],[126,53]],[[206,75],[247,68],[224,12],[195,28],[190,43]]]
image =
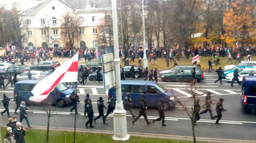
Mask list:
[[[220,121],[221,125],[216,125],[215,121],[210,119],[209,113],[201,115],[201,119],[197,122],[195,127],[195,134],[197,137],[211,137],[211,138],[223,138],[223,139],[241,139],[241,140],[256,140],[255,128],[256,128],[256,116],[254,114],[247,114],[240,107],[240,91],[241,86],[234,84],[234,87],[230,86],[225,79],[223,79],[223,85],[219,84],[219,81],[215,84],[214,80],[217,79],[215,72],[205,73],[206,79],[201,83],[196,83],[197,92],[199,94],[206,93],[211,91],[216,96],[213,96],[212,99],[217,102],[219,98],[224,98],[223,107],[227,109],[227,112],[223,113],[223,117]],[[133,80],[142,80],[142,79],[133,79]],[[7,81],[5,81],[6,83]],[[175,95],[181,98],[183,101],[186,101],[189,98],[190,91],[185,89],[189,88],[190,83],[179,83],[171,82],[167,83],[158,79],[158,83],[163,85],[166,89],[173,90]],[[184,87],[185,85],[185,87]],[[0,91],[1,96],[3,93],[6,93],[8,97],[13,98],[13,88],[8,85],[7,91]],[[93,101],[93,110],[95,115],[98,115],[98,109],[96,101],[100,96],[105,100],[105,105],[107,106],[107,92],[104,91],[103,82],[93,82],[88,81],[85,85],[79,85],[77,93],[80,97],[80,103],[78,104],[77,115],[77,128],[85,129],[85,122],[88,118],[83,116],[84,112],[84,103],[83,99],[86,93],[90,94],[90,98]],[[204,99],[204,97],[201,97]],[[192,103],[187,102],[186,106],[191,107]],[[19,114],[14,114],[14,109],[16,104],[11,101],[9,105],[10,115],[16,116],[19,119]],[[47,115],[43,112],[43,107],[39,105],[29,105],[28,110],[28,119],[30,125],[33,126],[47,126]],[[70,112],[69,109],[71,106],[58,107],[56,111],[57,115],[51,117],[51,127],[74,127],[74,111]],[[212,108],[215,109],[215,105],[212,105]],[[4,107],[2,102],[0,103],[0,111],[3,111]],[[154,125],[147,125],[143,117],[138,119],[132,125],[132,117],[130,113],[127,113],[127,127],[129,132],[138,132],[138,133],[154,133],[154,134],[165,134],[165,135],[181,135],[181,136],[192,136],[192,127],[191,120],[189,119],[185,111],[181,111],[180,105],[177,105],[176,108],[171,109],[165,112],[165,124],[167,127],[162,127],[162,121],[155,122]],[[203,109],[201,109],[203,110]],[[133,108],[133,112],[138,115],[138,109]],[[105,110],[106,113],[106,110]],[[148,119],[156,119],[158,117],[157,108],[149,108],[146,111]],[[213,115],[217,115],[213,111]],[[110,114],[107,117],[108,125],[103,125],[102,119],[98,119],[94,129],[96,130],[113,130],[113,116]],[[6,124],[8,121],[7,114],[4,113],[4,116],[0,116],[0,123]],[[22,121],[22,125],[26,127],[26,121]]]

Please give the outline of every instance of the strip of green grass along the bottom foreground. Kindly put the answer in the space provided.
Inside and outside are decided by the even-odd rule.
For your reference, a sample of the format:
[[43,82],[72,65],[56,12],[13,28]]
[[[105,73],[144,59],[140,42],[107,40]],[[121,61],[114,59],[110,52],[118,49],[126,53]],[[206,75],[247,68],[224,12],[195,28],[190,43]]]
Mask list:
[[[26,129],[25,141],[26,143],[46,143],[46,130],[38,129]],[[6,128],[1,127],[2,141],[4,140],[4,134]],[[73,132],[69,131],[50,131],[48,143],[73,143]],[[98,133],[84,133],[76,132],[76,143],[192,143],[192,141],[186,140],[173,140],[173,139],[160,139],[149,137],[133,137],[131,136],[128,141],[114,141],[112,135],[98,134]],[[198,142],[200,143],[200,142]],[[203,143],[203,142],[201,142]]]

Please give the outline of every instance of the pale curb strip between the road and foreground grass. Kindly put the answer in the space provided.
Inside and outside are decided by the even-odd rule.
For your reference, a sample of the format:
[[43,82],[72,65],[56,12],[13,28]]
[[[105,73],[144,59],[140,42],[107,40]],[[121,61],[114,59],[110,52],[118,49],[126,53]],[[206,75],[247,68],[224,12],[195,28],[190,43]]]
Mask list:
[[[6,127],[4,124],[0,124],[0,127]],[[47,127],[43,126],[33,126],[33,129],[41,129],[46,130]],[[54,131],[74,131],[73,128],[65,128],[65,127],[50,127],[50,130]],[[95,130],[95,129],[76,129],[77,132],[83,133],[101,133],[101,134],[110,134],[113,135],[114,131],[108,130]],[[134,133],[128,132],[131,136],[135,137],[152,137],[152,138],[162,138],[162,139],[177,139],[177,140],[187,140],[193,141],[193,137],[191,136],[180,136],[180,135],[161,135],[161,134],[152,134],[152,133]],[[239,140],[239,139],[219,139],[219,138],[206,138],[206,137],[197,137],[197,141],[205,141],[205,142],[215,142],[215,143],[256,143],[256,141],[250,140]]]

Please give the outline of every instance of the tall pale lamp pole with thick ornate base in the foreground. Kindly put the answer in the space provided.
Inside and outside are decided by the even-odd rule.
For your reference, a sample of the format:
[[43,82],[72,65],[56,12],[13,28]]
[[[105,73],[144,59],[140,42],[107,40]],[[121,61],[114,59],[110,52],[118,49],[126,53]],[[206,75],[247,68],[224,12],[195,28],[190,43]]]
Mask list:
[[120,58],[118,54],[118,26],[116,14],[116,0],[112,0],[112,18],[113,18],[113,33],[114,33],[114,65],[116,79],[116,109],[113,112],[114,116],[114,135],[113,139],[118,141],[126,141],[130,138],[127,134],[126,111],[122,101],[121,76],[120,76]]

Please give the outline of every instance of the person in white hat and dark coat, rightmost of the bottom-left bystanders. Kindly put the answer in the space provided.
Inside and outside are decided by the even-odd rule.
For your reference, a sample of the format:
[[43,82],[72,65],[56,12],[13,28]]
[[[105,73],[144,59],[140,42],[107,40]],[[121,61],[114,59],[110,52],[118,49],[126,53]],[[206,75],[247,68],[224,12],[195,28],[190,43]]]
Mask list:
[[25,143],[24,135],[26,129],[21,127],[21,123],[16,123],[16,128],[12,131],[12,137],[16,140],[16,143]]

